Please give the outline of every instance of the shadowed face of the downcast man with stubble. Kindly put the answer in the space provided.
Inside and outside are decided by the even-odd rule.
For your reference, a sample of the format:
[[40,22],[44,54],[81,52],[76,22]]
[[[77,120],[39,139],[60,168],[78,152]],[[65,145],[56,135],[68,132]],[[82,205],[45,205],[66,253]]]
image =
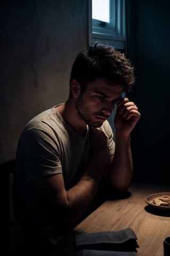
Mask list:
[[110,86],[106,84],[105,79],[96,79],[89,83],[86,90],[80,94],[76,108],[89,126],[100,127],[111,115],[122,93],[122,85]]

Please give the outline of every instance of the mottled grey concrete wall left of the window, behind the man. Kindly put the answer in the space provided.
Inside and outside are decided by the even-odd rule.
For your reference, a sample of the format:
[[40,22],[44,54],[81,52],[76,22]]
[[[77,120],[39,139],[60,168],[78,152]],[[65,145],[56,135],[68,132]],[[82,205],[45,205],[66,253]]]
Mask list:
[[15,158],[30,118],[67,99],[72,62],[88,44],[88,0],[1,4],[0,163]]

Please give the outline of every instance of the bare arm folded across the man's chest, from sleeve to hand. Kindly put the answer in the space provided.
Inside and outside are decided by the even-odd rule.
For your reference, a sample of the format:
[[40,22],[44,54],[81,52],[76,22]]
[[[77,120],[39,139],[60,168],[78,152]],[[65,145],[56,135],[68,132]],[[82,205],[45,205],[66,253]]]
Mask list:
[[49,204],[55,212],[60,213],[67,225],[74,225],[87,210],[94,198],[100,179],[108,162],[108,140],[106,135],[94,129],[92,132],[94,155],[86,172],[75,186],[65,190],[63,174],[33,181],[40,198]]

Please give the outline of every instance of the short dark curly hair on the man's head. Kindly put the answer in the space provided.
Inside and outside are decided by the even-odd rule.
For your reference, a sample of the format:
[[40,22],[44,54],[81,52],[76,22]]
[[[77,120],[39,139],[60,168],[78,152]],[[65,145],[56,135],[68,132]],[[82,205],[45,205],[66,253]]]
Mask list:
[[135,81],[134,68],[124,53],[111,45],[96,42],[78,53],[72,66],[70,84],[77,79],[81,92],[84,92],[87,84],[97,78],[105,78],[111,86],[121,84],[124,92],[128,92]]

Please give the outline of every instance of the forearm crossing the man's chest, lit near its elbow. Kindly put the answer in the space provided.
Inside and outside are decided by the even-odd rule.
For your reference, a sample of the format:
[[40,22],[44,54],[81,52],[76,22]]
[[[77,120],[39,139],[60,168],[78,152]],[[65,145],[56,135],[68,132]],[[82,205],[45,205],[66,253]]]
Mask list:
[[105,168],[106,161],[102,160],[102,157],[93,157],[79,182],[66,191],[66,215],[69,223],[75,223],[88,209],[88,206],[96,195]]

